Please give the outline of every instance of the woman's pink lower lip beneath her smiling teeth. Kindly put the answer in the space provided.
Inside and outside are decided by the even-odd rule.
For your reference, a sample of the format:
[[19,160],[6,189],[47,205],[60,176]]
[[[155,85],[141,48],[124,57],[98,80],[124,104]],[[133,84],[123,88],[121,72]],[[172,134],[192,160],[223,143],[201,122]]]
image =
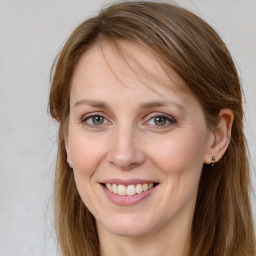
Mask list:
[[102,188],[103,188],[105,195],[111,202],[121,205],[121,206],[132,206],[132,205],[138,204],[141,201],[143,201],[144,199],[148,198],[155,190],[155,187],[153,187],[145,192],[136,194],[134,196],[120,196],[120,195],[110,192],[104,186],[102,186]]

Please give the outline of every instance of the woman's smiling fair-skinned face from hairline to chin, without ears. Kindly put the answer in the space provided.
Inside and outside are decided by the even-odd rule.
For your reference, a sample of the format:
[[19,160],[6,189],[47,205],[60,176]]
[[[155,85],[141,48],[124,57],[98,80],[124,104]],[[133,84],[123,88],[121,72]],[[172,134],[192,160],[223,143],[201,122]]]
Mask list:
[[66,138],[76,185],[99,231],[141,236],[183,228],[213,134],[196,98],[177,89],[183,81],[172,70],[170,81],[149,50],[123,46],[148,77],[107,42],[76,66]]

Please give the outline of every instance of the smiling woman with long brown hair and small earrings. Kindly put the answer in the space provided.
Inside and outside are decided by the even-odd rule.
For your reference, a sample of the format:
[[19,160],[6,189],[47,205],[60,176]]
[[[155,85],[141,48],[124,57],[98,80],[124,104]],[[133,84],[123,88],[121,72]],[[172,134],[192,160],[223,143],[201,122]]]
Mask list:
[[54,67],[63,255],[255,254],[239,78],[209,25],[165,3],[114,4]]

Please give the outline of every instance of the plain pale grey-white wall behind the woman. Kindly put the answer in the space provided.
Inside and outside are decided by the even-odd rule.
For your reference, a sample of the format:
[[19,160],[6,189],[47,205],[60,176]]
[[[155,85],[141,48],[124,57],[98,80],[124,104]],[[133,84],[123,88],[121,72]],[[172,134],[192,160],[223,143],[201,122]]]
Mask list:
[[[0,255],[56,255],[52,188],[57,126],[47,114],[50,67],[70,32],[107,2],[0,0]],[[220,33],[239,67],[255,166],[256,0],[177,2]]]

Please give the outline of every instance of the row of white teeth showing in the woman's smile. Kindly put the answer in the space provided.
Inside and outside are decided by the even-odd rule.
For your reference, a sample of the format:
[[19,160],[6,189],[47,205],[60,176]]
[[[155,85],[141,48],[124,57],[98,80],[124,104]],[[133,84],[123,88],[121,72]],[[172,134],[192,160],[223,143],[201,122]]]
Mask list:
[[117,185],[117,184],[110,184],[107,183],[106,184],[106,188],[114,193],[114,194],[118,194],[120,196],[134,196],[136,194],[140,194],[142,192],[146,192],[149,189],[153,188],[153,183],[143,183],[143,184],[137,184],[137,185]]

